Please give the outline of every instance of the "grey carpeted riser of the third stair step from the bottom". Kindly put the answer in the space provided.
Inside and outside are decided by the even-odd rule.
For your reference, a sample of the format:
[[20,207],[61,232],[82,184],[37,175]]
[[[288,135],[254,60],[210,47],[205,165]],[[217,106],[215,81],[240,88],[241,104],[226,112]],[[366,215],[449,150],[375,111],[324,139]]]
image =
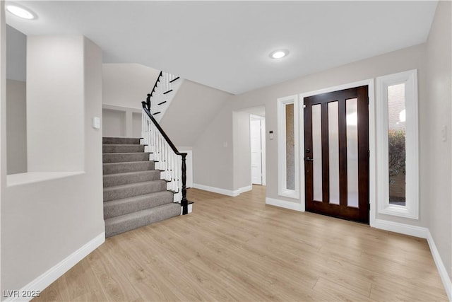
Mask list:
[[155,181],[153,183],[143,183],[131,187],[109,187],[104,189],[104,202],[114,199],[123,199],[143,194],[149,194],[158,191],[165,191],[167,184],[164,181]]

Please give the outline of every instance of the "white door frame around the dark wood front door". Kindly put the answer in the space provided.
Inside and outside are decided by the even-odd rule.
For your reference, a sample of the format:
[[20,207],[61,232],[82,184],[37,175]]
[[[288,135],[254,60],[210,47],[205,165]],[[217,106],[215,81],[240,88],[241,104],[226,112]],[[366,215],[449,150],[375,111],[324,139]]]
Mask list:
[[[300,93],[297,100],[298,103],[298,124],[299,124],[299,150],[304,150],[304,98],[312,95],[318,95],[321,93],[329,93],[333,91],[340,91],[348,88],[354,88],[359,86],[368,86],[369,94],[369,203],[370,203],[370,213],[369,213],[369,224],[370,226],[375,225],[376,220],[376,127],[375,127],[375,92],[374,92],[374,79],[367,79],[363,81],[357,81],[353,83],[345,83],[339,86],[333,86],[329,88],[323,88],[316,91],[309,91],[305,93]],[[304,153],[298,153],[299,157],[299,201],[301,203],[301,211],[306,211],[305,203],[305,190],[304,190]]]

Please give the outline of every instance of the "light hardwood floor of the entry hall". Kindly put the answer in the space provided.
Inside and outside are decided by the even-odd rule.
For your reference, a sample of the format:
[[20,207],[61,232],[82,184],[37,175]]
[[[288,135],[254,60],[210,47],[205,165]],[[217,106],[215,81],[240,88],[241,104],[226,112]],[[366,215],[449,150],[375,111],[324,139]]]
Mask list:
[[106,242],[35,301],[447,301],[426,240],[190,189],[194,212]]

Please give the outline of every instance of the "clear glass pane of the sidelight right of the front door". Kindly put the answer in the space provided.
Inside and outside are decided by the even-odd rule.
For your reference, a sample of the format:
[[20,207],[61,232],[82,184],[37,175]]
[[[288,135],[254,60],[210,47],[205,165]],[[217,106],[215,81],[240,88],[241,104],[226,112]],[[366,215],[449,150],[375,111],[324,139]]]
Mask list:
[[389,203],[405,206],[405,83],[388,86]]

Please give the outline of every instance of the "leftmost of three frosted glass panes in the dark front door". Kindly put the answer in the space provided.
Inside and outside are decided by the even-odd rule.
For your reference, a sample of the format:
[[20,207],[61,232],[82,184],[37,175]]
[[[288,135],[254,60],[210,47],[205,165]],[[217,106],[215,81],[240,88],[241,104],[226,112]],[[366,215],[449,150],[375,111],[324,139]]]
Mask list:
[[312,173],[314,201],[322,201],[322,117],[321,105],[312,105]]

